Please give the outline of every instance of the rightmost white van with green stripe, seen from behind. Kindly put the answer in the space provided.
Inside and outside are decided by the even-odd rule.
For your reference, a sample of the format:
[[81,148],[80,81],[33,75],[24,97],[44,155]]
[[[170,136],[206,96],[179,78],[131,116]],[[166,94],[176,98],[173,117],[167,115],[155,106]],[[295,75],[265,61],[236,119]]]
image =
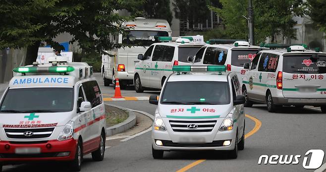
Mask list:
[[305,45],[275,45],[257,54],[243,78],[246,107],[266,103],[269,112],[281,106],[321,107],[326,113],[326,53],[305,49]]

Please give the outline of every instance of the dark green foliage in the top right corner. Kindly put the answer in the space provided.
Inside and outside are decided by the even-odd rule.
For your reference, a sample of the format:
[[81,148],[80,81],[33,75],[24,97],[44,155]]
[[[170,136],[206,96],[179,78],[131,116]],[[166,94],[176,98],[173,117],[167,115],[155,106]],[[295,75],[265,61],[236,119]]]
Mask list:
[[308,0],[307,14],[315,22],[319,30],[326,33],[326,1],[325,0]]

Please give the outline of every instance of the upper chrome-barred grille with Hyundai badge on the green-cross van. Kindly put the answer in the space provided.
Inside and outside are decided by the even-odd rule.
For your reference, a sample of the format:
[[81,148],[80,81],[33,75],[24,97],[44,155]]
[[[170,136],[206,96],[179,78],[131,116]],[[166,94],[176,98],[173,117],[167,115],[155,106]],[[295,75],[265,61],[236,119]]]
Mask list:
[[[169,120],[169,122],[175,132],[211,132],[217,120]],[[198,127],[190,129],[187,127],[190,124]]]

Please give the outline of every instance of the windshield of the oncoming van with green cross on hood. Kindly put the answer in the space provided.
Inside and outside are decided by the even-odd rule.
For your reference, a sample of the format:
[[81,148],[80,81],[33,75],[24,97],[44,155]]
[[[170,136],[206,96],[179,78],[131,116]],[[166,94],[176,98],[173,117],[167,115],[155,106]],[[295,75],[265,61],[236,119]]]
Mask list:
[[167,82],[161,103],[227,105],[230,103],[229,85],[227,82],[217,81]]

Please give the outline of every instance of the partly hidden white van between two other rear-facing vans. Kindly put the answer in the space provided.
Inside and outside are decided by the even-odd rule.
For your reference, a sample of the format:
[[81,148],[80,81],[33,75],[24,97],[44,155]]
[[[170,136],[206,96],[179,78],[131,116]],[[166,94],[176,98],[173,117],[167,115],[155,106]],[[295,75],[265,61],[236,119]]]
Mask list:
[[267,48],[250,46],[246,41],[208,45],[197,52],[194,65],[226,65],[226,70],[235,72],[241,83],[243,75],[247,72],[243,64],[251,62],[261,50]]

